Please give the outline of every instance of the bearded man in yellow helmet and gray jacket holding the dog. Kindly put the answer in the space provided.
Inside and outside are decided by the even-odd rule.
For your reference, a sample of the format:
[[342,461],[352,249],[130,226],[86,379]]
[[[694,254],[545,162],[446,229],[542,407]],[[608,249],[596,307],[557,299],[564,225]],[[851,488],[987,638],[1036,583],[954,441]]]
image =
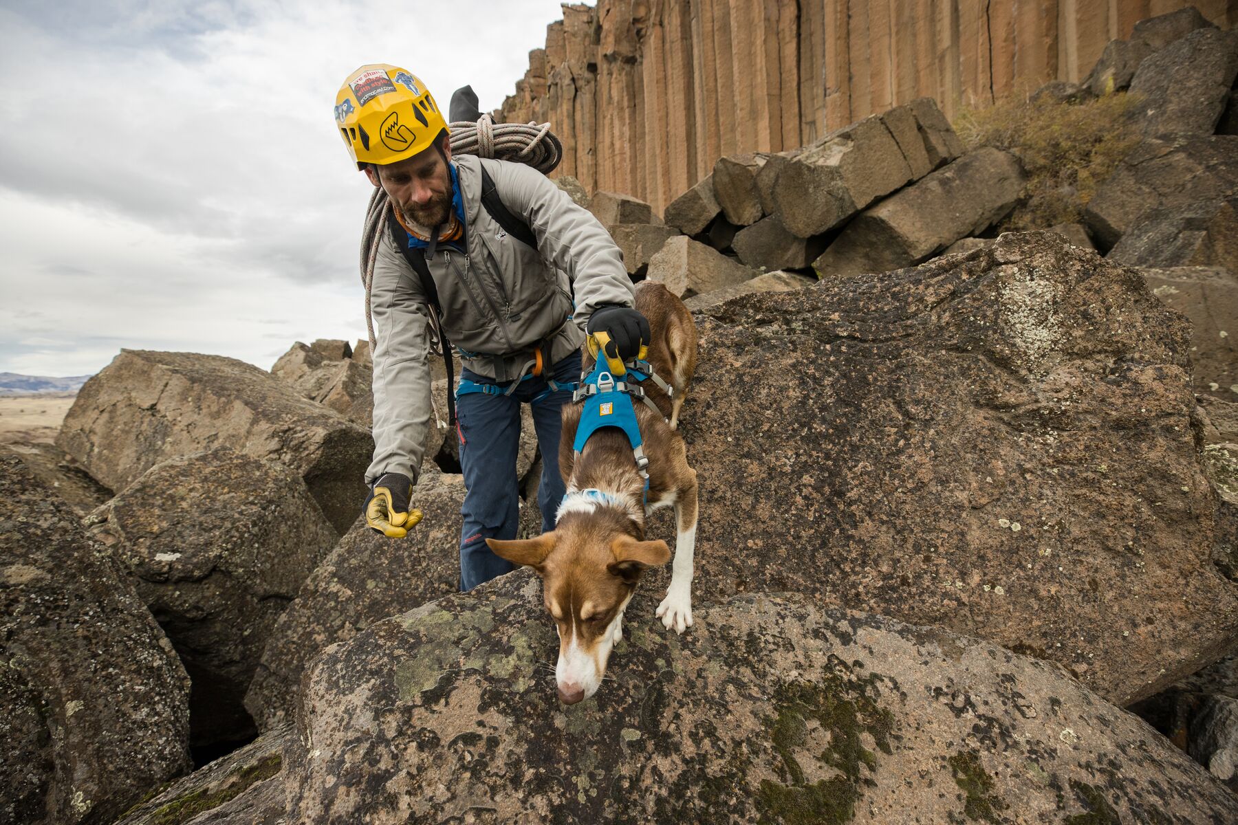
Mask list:
[[[453,158],[447,122],[411,73],[363,66],[335,98],[335,121],[358,168],[383,187],[396,216],[383,233],[370,291],[374,460],[366,521],[402,537],[420,517],[409,500],[431,425],[433,292],[443,333],[464,366],[457,390],[468,490],[461,589],[470,590],[514,566],[485,539],[516,536],[520,404],[531,404],[542,455],[537,501],[542,529],[550,531],[565,494],[560,411],[571,402],[568,385],[579,380],[582,330],[609,333],[619,355],[631,357],[649,340],[649,324],[631,308],[623,256],[597,219],[527,166]],[[501,205],[527,224],[536,249],[483,208],[485,178]],[[421,268],[422,261],[418,273],[413,263]]]

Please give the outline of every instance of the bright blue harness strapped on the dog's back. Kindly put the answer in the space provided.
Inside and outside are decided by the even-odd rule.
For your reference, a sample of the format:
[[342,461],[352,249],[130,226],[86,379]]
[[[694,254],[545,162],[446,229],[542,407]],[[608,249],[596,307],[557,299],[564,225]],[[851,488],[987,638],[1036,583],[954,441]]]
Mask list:
[[610,335],[603,331],[593,333],[589,336],[589,355],[595,360],[593,371],[581,377],[581,386],[572,393],[574,403],[583,402],[581,422],[576,428],[576,440],[572,443],[572,451],[577,459],[584,450],[589,438],[607,427],[623,430],[631,444],[633,456],[636,459],[636,472],[645,482],[643,505],[649,506],[649,456],[640,437],[640,424],[636,422],[636,407],[634,398],[640,398],[659,416],[662,411],[657,408],[644,387],[644,381],[654,381],[667,396],[675,396],[675,388],[667,385],[655,372],[646,359],[647,346],[641,346],[640,353],[629,364],[625,364],[618,355],[607,351],[610,344]]

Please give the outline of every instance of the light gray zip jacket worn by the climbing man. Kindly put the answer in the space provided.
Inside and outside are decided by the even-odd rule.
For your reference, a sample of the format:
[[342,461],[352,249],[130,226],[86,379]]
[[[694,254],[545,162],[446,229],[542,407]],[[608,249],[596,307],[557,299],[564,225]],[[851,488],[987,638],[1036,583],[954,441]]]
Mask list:
[[[531,357],[546,339],[551,362],[557,362],[579,349],[597,307],[633,306],[619,247],[592,213],[541,172],[469,155],[452,162],[463,192],[468,255],[443,244],[428,263],[443,331],[461,350],[464,366],[495,377],[495,362],[487,356],[515,356],[509,364],[516,362]],[[537,236],[537,250],[504,233],[482,207],[482,163],[503,204]],[[373,484],[384,472],[416,480],[431,425],[430,309],[420,278],[390,231],[381,233],[374,262],[370,313],[374,460],[365,480]]]

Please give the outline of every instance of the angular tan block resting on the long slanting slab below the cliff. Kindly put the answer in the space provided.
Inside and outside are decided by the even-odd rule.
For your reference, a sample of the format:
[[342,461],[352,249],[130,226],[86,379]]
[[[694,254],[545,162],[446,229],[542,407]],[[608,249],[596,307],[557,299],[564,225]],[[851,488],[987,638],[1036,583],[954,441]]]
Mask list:
[[812,237],[847,220],[911,179],[899,143],[872,115],[833,132],[794,158],[771,156],[774,209],[800,237]]

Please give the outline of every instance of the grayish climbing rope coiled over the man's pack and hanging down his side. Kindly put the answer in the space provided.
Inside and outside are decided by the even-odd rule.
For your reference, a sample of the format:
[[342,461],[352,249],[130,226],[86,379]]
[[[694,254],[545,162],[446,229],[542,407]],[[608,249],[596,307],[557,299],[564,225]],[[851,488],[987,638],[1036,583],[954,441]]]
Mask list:
[[[490,115],[482,115],[474,124],[458,121],[448,126],[448,145],[452,155],[514,161],[550,174],[563,160],[563,145],[550,131],[550,124],[496,124]],[[370,334],[370,354],[378,346],[374,338],[374,319],[370,317],[370,288],[374,283],[374,261],[379,254],[379,241],[386,228],[390,205],[381,187],[374,189],[365,210],[365,228],[361,230],[361,283],[365,284],[365,328]],[[442,354],[442,329],[438,314],[431,310],[431,348]]]

